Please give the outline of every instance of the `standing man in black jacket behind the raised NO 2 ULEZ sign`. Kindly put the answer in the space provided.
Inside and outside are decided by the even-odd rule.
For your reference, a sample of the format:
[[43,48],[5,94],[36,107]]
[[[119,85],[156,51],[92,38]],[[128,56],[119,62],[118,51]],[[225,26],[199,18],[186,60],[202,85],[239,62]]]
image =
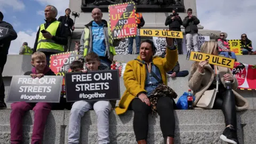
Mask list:
[[[182,25],[182,20],[177,13],[177,10],[172,10],[172,14],[169,15],[165,20],[165,26],[169,25],[169,29],[173,31],[181,31],[180,26]],[[182,52],[182,39],[176,39],[178,43],[178,53],[183,54]],[[174,41],[173,41],[174,42]]]

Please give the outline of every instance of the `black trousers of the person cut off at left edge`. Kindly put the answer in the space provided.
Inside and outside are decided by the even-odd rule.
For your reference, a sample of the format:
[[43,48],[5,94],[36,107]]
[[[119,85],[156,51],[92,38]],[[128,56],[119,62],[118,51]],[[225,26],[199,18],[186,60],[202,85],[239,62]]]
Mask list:
[[0,54],[0,101],[4,101],[4,81],[3,81],[3,77],[2,77],[2,73],[4,71],[4,65],[6,63],[7,60],[7,54]]

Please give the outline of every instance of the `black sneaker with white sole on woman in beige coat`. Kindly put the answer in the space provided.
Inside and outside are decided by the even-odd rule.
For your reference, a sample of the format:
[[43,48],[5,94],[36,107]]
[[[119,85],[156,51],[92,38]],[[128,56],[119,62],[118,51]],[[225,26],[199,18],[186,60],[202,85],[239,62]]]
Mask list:
[[220,135],[220,139],[228,143],[239,144],[237,140],[237,133],[233,126],[226,127]]

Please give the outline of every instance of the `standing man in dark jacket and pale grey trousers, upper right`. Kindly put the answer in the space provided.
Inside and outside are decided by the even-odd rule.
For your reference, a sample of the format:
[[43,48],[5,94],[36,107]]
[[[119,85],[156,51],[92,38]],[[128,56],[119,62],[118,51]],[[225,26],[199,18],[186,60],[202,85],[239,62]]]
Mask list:
[[198,28],[197,25],[200,21],[196,16],[192,15],[192,9],[188,9],[188,16],[183,20],[183,27],[185,27],[186,40],[187,40],[187,57],[190,55],[191,42],[193,41],[193,47],[195,52],[199,52],[198,47]]

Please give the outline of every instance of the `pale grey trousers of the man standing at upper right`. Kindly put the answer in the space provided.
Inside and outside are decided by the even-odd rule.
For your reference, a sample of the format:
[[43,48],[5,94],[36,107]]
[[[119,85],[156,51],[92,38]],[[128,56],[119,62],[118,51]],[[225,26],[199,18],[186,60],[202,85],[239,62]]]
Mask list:
[[186,40],[187,40],[187,52],[191,50],[191,42],[193,41],[193,46],[195,52],[199,52],[198,47],[198,34],[186,34]]

